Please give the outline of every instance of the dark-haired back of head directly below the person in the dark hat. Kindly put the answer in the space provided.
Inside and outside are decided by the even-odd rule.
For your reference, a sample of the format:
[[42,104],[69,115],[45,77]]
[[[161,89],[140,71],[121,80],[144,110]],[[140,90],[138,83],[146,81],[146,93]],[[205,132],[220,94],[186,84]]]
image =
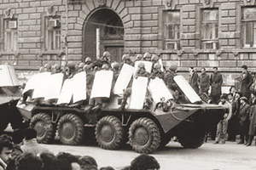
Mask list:
[[29,153],[20,156],[17,161],[17,170],[42,170],[43,167],[43,161]]

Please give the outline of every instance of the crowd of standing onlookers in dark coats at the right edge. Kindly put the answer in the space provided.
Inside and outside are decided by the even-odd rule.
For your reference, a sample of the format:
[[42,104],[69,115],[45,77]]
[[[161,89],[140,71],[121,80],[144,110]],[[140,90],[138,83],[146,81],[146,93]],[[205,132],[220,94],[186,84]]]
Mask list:
[[217,129],[212,131],[215,144],[224,144],[227,140],[236,141],[237,134],[240,135],[238,144],[250,146],[253,142],[256,127],[256,77],[247,71],[247,65],[242,65],[239,80],[238,88],[231,86],[229,94],[222,94],[223,78],[217,67],[213,67],[211,77],[205,68],[202,68],[201,76],[193,67],[189,68],[189,83],[195,92],[208,95],[211,87],[207,102],[223,105],[227,109]]

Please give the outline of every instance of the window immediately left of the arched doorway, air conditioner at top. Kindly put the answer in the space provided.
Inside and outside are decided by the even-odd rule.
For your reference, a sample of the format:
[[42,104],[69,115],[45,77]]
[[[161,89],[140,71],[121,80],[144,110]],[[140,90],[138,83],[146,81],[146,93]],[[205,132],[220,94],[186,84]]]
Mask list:
[[46,17],[44,26],[44,49],[46,51],[61,49],[61,17]]

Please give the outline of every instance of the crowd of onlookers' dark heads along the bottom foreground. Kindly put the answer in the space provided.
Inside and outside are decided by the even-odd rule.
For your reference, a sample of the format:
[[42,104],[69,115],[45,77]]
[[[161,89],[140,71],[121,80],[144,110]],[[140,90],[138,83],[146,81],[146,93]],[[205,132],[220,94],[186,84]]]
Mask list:
[[[32,128],[15,130],[9,136],[0,136],[0,170],[114,170],[98,167],[92,156],[74,156],[60,152],[56,156],[37,142],[37,132]],[[122,170],[160,169],[153,156],[140,155]]]

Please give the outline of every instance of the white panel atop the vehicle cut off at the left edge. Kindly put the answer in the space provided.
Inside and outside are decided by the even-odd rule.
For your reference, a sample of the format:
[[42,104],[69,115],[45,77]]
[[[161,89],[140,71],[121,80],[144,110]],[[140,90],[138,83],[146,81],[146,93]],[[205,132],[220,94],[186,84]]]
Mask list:
[[15,69],[10,65],[0,65],[0,77],[0,87],[19,85]]

